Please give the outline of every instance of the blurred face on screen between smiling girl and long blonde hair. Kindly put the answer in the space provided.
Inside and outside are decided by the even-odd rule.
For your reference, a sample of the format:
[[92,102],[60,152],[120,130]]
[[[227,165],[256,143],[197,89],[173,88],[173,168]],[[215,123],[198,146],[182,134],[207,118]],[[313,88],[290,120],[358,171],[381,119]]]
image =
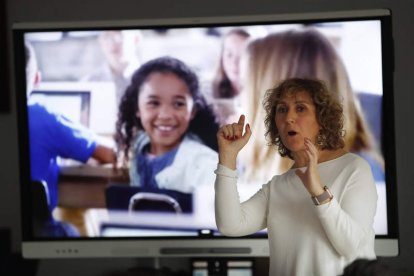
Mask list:
[[240,57],[246,48],[247,38],[230,34],[224,40],[222,63],[226,76],[231,83],[239,83]]

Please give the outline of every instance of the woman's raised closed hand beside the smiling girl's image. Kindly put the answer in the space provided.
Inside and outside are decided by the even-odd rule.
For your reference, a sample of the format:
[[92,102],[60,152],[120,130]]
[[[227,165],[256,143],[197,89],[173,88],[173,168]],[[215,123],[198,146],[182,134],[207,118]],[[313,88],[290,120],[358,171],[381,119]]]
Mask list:
[[245,116],[241,115],[237,123],[224,125],[217,132],[219,163],[230,169],[236,169],[237,155],[252,134],[249,124],[245,127],[244,121]]

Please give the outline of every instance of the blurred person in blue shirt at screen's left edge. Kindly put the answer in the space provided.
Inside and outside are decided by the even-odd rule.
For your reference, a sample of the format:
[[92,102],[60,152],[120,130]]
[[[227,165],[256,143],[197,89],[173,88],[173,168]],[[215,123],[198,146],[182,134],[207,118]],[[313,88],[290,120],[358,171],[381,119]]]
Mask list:
[[96,135],[86,127],[30,100],[30,93],[40,83],[41,74],[29,43],[25,45],[25,52],[31,179],[46,182],[52,212],[58,204],[58,157],[83,163],[89,158],[100,163],[115,163],[116,155],[112,148],[98,144]]

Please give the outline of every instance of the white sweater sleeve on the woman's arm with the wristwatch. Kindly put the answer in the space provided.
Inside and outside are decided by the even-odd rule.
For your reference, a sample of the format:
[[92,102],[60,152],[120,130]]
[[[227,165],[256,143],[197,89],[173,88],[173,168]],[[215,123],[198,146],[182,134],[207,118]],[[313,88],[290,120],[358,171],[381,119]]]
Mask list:
[[374,179],[365,161],[357,162],[348,174],[344,194],[330,203],[316,206],[325,233],[336,251],[347,259],[375,257],[366,246],[373,244],[377,206]]

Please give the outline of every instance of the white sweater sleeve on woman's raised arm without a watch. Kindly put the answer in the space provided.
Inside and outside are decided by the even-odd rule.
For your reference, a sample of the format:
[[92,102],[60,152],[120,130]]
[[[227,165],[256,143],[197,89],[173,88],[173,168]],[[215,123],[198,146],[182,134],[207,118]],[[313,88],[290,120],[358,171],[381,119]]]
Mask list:
[[269,184],[240,203],[236,171],[218,164],[215,173],[215,215],[219,231],[227,236],[244,236],[266,228]]

